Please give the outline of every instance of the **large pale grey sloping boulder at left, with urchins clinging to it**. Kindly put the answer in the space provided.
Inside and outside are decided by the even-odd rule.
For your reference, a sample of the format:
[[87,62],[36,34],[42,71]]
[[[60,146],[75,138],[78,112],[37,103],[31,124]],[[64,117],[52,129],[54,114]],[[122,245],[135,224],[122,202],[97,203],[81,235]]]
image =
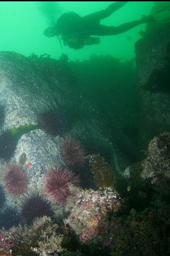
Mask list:
[[[94,106],[81,94],[67,60],[1,52],[0,93],[1,116],[4,114],[0,122],[3,134],[0,134],[0,151],[3,151],[0,158],[20,163],[31,183],[38,182],[55,165],[65,165],[59,153],[59,143],[65,134],[78,138],[87,153],[105,156],[108,152],[112,158],[113,145],[103,136]],[[51,135],[40,126],[38,117],[42,125],[46,122],[48,131],[54,109],[59,110],[59,118],[62,119],[63,115],[65,121],[58,120],[57,128],[62,126],[60,133]],[[41,115],[43,111],[46,111],[45,116]],[[7,149],[13,150],[8,158],[4,157],[5,143],[8,143]],[[89,149],[96,151],[89,152]],[[114,155],[113,158],[117,159],[116,152]]]

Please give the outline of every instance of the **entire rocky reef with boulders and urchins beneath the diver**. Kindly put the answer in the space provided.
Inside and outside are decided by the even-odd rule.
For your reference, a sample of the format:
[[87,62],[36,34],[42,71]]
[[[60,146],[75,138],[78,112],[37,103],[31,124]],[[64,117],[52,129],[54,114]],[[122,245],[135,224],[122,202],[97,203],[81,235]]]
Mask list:
[[0,53],[0,255],[170,254],[169,45],[165,23],[136,68]]

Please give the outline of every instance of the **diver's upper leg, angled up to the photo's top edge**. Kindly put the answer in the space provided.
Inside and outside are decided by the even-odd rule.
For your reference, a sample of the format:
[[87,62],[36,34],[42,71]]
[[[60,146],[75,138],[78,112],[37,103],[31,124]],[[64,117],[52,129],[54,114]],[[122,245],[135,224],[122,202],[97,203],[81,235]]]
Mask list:
[[120,9],[121,7],[123,7],[123,5],[125,5],[125,3],[128,3],[128,1],[117,1],[115,3],[111,3],[111,5],[109,5],[106,9],[102,10],[102,11],[97,11],[94,12],[94,14],[89,14],[87,16],[84,16],[84,20],[92,20],[94,22],[99,22],[100,20],[103,20],[105,18],[107,18],[108,16],[110,16],[111,14],[113,14],[114,11],[117,11],[117,9]]

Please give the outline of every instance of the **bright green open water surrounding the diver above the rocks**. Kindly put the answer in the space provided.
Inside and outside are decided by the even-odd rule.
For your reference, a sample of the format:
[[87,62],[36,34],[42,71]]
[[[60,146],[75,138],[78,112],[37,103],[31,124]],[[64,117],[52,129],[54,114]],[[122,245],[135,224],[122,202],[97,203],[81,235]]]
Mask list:
[[[105,9],[111,2],[65,1],[56,3],[58,6],[57,18],[67,11],[75,11],[81,16],[86,16],[94,11]],[[48,5],[48,9],[51,2],[46,4]],[[130,2],[113,15],[103,20],[102,24],[117,26],[123,22],[138,20],[142,15],[148,15],[152,6],[153,2],[151,1]],[[67,53],[69,59],[88,59],[93,53],[98,55],[111,54],[115,57],[130,59],[134,57],[134,43],[140,38],[138,32],[145,27],[145,25],[140,25],[117,36],[103,36],[100,45],[84,47],[79,51],[74,51],[68,47],[61,49],[57,38],[49,39],[45,37],[43,31],[48,26],[49,19],[44,15],[44,12],[42,13],[40,2],[1,1],[0,50],[16,51],[26,56],[32,53],[36,55],[47,53],[55,58],[58,58],[61,53]]]

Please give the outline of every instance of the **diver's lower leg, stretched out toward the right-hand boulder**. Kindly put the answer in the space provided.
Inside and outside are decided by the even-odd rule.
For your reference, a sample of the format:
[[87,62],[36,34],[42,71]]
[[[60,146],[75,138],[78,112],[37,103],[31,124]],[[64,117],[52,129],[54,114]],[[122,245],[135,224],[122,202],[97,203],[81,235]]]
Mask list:
[[91,35],[96,36],[111,36],[116,34],[121,34],[123,32],[126,32],[130,30],[131,28],[134,28],[140,24],[153,22],[154,18],[152,16],[146,16],[142,18],[141,20],[135,20],[134,22],[127,22],[120,26],[104,26],[104,25],[98,25],[95,28],[95,31]]

